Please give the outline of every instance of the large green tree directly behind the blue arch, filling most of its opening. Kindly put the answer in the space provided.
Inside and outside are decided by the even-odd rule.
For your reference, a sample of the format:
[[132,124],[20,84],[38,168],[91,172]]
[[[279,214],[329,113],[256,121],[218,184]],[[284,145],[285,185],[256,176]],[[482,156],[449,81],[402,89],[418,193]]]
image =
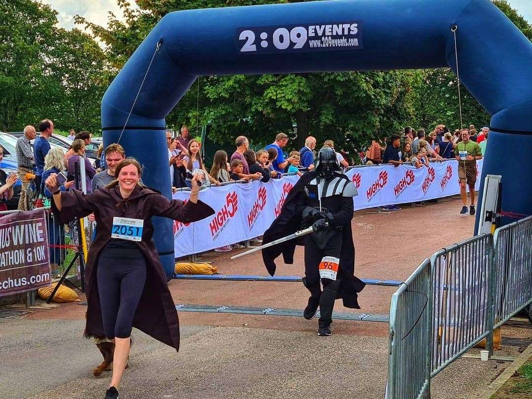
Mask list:
[[[113,64],[123,64],[149,30],[165,14],[176,10],[268,4],[271,0],[139,0],[131,10],[118,0],[125,22],[110,15],[109,28],[78,17],[106,44]],[[287,3],[287,1],[279,1]],[[245,134],[255,143],[267,144],[285,131],[295,140],[292,148],[314,135],[319,142],[335,139],[338,147],[355,151],[377,132],[401,129],[413,119],[410,71],[265,74],[262,76],[212,76],[200,78],[167,117],[169,126],[210,124],[211,136],[220,144]],[[295,128],[295,129],[294,129]]]

